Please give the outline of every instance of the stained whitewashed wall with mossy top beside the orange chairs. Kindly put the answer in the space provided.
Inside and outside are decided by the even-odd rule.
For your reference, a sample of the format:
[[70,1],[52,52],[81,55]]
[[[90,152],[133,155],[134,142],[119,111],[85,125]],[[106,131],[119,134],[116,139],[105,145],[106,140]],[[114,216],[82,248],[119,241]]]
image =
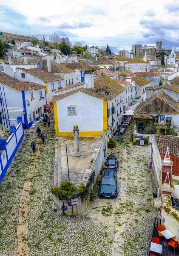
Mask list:
[[173,240],[179,239],[179,211],[172,206],[171,196],[168,194],[162,195],[162,224],[165,229],[169,229],[175,237]]

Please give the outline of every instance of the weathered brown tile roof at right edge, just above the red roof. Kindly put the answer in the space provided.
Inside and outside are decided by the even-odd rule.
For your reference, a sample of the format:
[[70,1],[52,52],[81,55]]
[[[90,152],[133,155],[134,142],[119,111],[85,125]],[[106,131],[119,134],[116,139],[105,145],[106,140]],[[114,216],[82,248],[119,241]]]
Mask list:
[[160,154],[164,154],[169,148],[169,154],[179,157],[179,137],[171,135],[155,134],[157,146]]

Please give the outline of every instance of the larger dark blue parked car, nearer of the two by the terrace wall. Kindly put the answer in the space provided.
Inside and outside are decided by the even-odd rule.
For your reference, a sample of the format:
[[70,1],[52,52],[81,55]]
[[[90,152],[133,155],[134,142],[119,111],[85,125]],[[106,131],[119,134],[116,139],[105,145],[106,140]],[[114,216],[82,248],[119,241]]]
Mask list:
[[99,184],[99,196],[102,198],[117,197],[117,172],[105,169]]

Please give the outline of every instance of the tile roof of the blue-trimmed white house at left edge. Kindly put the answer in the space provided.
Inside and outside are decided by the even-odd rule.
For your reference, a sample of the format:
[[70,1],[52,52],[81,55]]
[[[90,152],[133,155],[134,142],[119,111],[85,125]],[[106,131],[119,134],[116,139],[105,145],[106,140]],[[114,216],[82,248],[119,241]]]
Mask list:
[[28,90],[31,88],[35,88],[35,90],[38,90],[45,87],[43,85],[32,83],[32,82],[22,82],[3,72],[0,72],[0,83],[6,84],[16,90]]

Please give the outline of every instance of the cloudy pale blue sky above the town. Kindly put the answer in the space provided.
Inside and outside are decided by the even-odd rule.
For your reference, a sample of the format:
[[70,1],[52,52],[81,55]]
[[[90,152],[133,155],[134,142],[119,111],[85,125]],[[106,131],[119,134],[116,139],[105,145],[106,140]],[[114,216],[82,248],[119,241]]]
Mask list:
[[179,0],[0,0],[0,31],[46,40],[56,32],[116,53],[156,41],[178,48]]

